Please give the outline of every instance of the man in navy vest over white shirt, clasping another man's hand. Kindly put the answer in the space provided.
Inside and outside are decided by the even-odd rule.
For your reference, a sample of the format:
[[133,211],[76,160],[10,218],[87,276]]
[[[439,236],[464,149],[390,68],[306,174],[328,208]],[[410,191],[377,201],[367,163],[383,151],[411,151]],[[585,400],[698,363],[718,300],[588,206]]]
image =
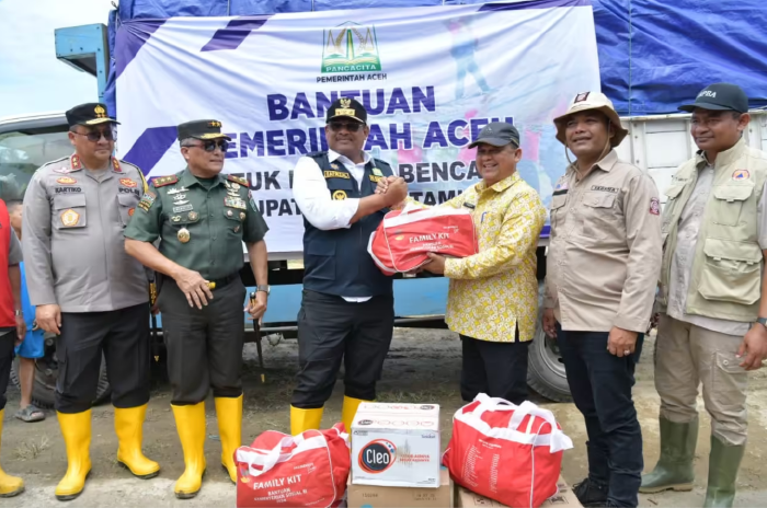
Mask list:
[[[328,109],[330,150],[298,160],[294,198],[304,215],[304,296],[298,312],[298,383],[290,402],[290,431],[317,429],[344,360],[342,422],[347,430],[360,402],[376,397],[376,381],[394,326],[392,279],[376,267],[368,240],[388,207],[408,194],[384,161],[363,151],[367,112],[341,97]],[[393,194],[392,194],[393,190]]]

